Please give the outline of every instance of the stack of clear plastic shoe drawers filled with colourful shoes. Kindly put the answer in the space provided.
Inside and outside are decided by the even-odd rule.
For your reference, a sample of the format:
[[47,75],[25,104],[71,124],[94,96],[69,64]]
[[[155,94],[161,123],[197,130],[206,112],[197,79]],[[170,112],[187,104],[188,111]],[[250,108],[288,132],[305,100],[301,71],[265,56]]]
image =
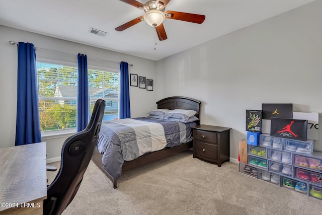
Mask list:
[[304,135],[261,133],[258,145],[248,144],[248,163],[239,163],[239,172],[322,200],[322,153],[313,152],[313,140]]

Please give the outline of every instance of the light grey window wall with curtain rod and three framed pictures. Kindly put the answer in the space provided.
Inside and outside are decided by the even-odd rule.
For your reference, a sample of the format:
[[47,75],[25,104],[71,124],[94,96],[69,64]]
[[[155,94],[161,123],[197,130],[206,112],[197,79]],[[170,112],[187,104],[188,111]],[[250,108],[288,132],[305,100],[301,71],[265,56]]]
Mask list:
[[[0,25],[0,98],[2,105],[0,106],[0,148],[15,146],[16,133],[16,107],[17,107],[17,46],[9,44],[9,41],[29,42],[36,47],[37,58],[56,58],[59,56],[55,52],[41,50],[50,49],[60,52],[71,53],[72,55],[62,55],[67,60],[75,60],[77,63],[77,53],[87,54],[88,58],[99,58],[111,61],[125,61],[133,63],[129,66],[129,73],[144,76],[147,79],[153,79],[153,91],[146,91],[138,87],[130,87],[130,104],[131,117],[145,116],[149,110],[156,108],[155,102],[160,99],[157,97],[157,88],[160,85],[156,79],[155,61],[144,58],[134,57],[127,54],[108,51],[96,47],[82,45],[65,40],[55,39],[27,31],[21,31]],[[37,49],[38,47],[38,49]],[[60,59],[64,60],[64,59]],[[95,61],[95,60],[94,60]],[[93,59],[89,59],[93,62]],[[106,63],[107,66],[119,69],[118,63]],[[65,137],[43,138],[46,141],[47,158],[55,159],[60,156],[61,146]]]

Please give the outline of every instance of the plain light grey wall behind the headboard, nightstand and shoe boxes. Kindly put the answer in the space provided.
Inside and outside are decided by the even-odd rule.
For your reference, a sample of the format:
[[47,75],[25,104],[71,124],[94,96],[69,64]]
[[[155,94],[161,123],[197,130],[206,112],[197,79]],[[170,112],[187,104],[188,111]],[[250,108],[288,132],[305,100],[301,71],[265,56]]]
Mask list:
[[247,109],[292,103],[321,121],[321,8],[317,1],[157,61],[163,95],[200,100],[201,124],[231,127],[233,159],[246,138]]

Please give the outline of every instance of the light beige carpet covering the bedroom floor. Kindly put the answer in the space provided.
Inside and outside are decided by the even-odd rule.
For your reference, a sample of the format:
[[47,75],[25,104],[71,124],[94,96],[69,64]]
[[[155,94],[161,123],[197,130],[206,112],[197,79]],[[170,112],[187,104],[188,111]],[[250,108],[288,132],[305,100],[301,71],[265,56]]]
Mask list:
[[[57,172],[48,172],[49,183]],[[124,172],[116,189],[91,161],[62,214],[313,215],[321,211],[321,200],[239,173],[238,165],[231,162],[218,167],[194,159],[187,150]]]

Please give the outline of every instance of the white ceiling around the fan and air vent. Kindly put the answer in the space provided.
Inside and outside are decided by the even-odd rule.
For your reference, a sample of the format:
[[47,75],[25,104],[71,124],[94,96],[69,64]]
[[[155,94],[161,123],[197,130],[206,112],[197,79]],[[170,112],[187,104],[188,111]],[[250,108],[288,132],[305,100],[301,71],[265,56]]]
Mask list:
[[[202,14],[206,19],[202,24],[166,19],[164,41],[144,21],[114,30],[144,14],[118,0],[0,0],[0,25],[159,60],[314,1],[172,0],[166,11]],[[100,37],[89,33],[90,28],[108,34]]]

